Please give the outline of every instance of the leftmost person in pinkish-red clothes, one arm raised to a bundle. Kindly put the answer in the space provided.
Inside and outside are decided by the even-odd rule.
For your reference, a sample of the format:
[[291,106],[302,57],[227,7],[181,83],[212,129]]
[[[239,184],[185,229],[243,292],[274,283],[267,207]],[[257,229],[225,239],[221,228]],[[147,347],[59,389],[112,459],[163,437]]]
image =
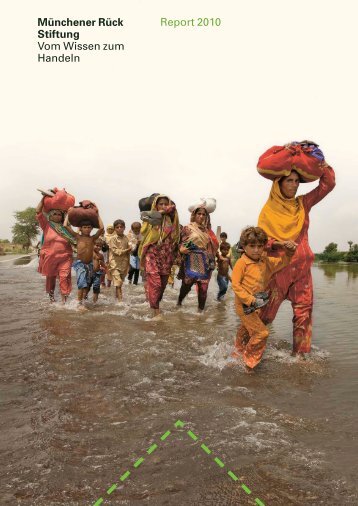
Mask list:
[[43,211],[44,198],[36,208],[36,219],[43,231],[38,271],[46,276],[46,292],[51,302],[55,301],[56,278],[59,278],[61,300],[64,304],[72,289],[72,246],[76,246],[76,241],[63,226],[64,211]]

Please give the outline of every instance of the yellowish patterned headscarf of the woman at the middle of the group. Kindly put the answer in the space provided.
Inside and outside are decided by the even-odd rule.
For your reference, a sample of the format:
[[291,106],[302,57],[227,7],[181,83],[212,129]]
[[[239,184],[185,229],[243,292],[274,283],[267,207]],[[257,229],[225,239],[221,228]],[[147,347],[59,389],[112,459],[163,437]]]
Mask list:
[[169,209],[163,214],[161,225],[153,226],[148,222],[143,223],[140,233],[143,237],[138,249],[138,256],[143,261],[144,255],[151,244],[161,244],[169,235],[174,244],[179,243],[179,218],[175,205],[167,195],[157,195],[152,203],[151,210],[156,210],[157,202],[160,199],[169,200]]

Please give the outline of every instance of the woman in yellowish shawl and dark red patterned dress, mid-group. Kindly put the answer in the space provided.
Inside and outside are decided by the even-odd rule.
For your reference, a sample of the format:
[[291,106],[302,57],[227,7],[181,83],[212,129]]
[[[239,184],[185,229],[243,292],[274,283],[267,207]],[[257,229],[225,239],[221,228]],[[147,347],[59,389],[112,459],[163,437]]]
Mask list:
[[144,270],[146,295],[153,317],[160,317],[162,300],[179,243],[179,218],[167,195],[157,195],[141,228],[140,267]]

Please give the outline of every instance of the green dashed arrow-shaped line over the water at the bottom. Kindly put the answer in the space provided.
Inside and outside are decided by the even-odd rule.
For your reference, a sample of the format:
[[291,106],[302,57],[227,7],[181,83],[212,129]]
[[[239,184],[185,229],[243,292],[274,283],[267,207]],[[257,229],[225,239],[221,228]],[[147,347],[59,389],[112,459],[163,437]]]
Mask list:
[[[185,423],[182,422],[181,420],[177,420],[175,423],[174,423],[174,427],[177,428],[177,429],[183,429],[184,428],[184,425]],[[170,435],[172,434],[172,432],[170,430],[167,430],[166,432],[164,432],[164,434],[160,437],[160,440],[161,441],[165,441]],[[193,440],[193,441],[198,441],[199,437],[194,434],[191,430],[188,430],[187,431],[187,435]],[[153,443],[147,450],[147,454],[148,455],[151,455],[156,449],[158,448],[158,445],[156,443]],[[207,455],[211,455],[212,454],[212,450],[210,450],[210,448],[208,448],[204,443],[202,443],[200,445],[200,448],[207,454]],[[136,460],[136,462],[134,462],[133,464],[133,467],[135,469],[137,469],[141,464],[142,462],[144,461],[144,457],[140,457],[138,460]],[[221,468],[223,469],[225,467],[225,464],[224,462],[219,459],[219,457],[215,457],[213,459],[213,461]],[[121,482],[124,482],[129,476],[130,476],[131,472],[130,471],[125,471],[122,476],[120,476],[119,480]],[[227,474],[228,476],[230,476],[230,478],[233,480],[233,481],[238,481],[239,478],[236,476],[236,474],[234,474],[232,471],[227,471]],[[113,483],[113,485],[107,490],[107,495],[111,495],[112,492],[114,492],[116,489],[118,488],[118,483]],[[241,488],[242,490],[248,494],[248,495],[251,495],[252,494],[252,491],[249,489],[249,487],[247,487],[244,483],[241,484]],[[93,503],[93,506],[100,506],[102,503],[103,503],[104,499],[103,497],[100,497],[99,499],[97,499],[97,501],[95,503]],[[261,501],[261,499],[259,498],[255,498],[255,504],[257,504],[257,506],[265,506],[265,503],[263,501]]]

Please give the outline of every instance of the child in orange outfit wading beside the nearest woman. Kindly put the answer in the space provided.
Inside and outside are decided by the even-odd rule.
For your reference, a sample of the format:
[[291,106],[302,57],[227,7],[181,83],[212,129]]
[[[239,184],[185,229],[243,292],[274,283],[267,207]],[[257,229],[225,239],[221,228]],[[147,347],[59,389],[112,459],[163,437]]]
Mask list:
[[264,253],[267,241],[267,234],[262,228],[245,228],[240,237],[244,254],[232,272],[236,312],[241,320],[232,356],[242,354],[248,371],[252,371],[261,361],[269,335],[257,311],[268,302],[268,294],[263,290],[271,276],[290,262],[297,246],[293,241],[280,243],[285,255],[274,258]]

